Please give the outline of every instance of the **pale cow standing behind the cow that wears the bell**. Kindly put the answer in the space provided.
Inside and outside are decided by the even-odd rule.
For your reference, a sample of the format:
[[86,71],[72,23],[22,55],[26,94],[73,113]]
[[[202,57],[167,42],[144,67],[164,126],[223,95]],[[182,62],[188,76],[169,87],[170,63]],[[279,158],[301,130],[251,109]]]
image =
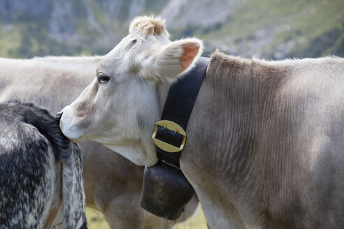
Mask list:
[[[34,102],[51,114],[75,100],[94,79],[101,57],[0,58],[0,101]],[[143,168],[95,142],[85,142],[83,178],[86,206],[101,212],[110,228],[172,228],[189,219],[195,197],[177,221],[166,221],[141,208]]]

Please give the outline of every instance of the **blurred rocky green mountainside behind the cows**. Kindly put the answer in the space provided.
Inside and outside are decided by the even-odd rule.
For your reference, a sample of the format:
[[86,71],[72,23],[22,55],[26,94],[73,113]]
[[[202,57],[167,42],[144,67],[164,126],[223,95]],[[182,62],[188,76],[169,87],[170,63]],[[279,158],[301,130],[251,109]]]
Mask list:
[[106,54],[136,15],[162,15],[173,38],[195,36],[242,57],[344,56],[342,0],[0,0],[0,56]]

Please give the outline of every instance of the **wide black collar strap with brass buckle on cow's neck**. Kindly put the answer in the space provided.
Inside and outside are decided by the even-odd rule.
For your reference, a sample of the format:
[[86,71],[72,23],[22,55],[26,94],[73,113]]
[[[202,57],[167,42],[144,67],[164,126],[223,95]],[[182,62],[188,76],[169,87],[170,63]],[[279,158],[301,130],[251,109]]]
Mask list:
[[199,57],[196,66],[172,84],[167,95],[162,120],[157,121],[152,140],[157,146],[157,156],[179,168],[180,151],[186,142],[186,128],[209,58]]

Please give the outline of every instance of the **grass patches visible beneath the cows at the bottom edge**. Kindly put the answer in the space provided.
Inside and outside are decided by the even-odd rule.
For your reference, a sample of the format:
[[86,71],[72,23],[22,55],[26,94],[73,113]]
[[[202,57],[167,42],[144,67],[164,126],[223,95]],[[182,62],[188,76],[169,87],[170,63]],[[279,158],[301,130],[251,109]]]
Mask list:
[[[110,229],[101,213],[87,207],[86,217],[89,229]],[[175,229],[207,229],[206,218],[201,207],[191,219],[184,223],[178,223]]]

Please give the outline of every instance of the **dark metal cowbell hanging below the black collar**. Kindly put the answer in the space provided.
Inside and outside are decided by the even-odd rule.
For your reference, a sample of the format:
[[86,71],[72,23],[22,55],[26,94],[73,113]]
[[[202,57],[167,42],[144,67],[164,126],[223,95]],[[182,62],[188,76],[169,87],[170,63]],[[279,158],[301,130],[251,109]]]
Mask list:
[[175,220],[194,196],[194,189],[177,168],[159,161],[145,167],[141,207],[164,219]]

